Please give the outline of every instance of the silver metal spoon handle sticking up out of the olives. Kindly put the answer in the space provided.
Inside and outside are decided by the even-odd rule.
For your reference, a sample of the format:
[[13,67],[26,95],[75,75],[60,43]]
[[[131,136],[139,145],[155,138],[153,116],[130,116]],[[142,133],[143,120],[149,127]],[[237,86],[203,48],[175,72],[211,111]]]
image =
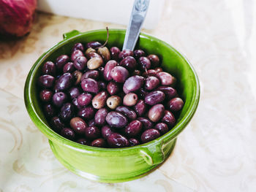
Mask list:
[[149,0],[135,0],[132,14],[129,18],[129,26],[124,38],[123,50],[133,50],[138,40],[140,29],[146,17]]

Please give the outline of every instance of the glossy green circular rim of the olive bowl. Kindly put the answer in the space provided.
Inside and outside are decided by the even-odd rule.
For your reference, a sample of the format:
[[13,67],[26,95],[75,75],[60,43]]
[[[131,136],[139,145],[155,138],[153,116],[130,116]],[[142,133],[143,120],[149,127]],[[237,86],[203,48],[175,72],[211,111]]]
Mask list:
[[[133,147],[122,147],[122,148],[105,148],[105,147],[91,147],[89,145],[80,145],[77,142],[71,141],[69,139],[66,139],[62,137],[60,134],[56,133],[53,131],[37,114],[37,111],[35,110],[34,104],[31,99],[31,84],[32,84],[32,79],[34,78],[34,75],[39,68],[39,64],[42,63],[42,60],[45,59],[48,55],[52,54],[56,49],[59,47],[66,45],[69,43],[70,40],[76,39],[77,37],[83,36],[83,35],[88,35],[88,34],[94,34],[94,33],[105,33],[105,29],[98,29],[98,30],[92,30],[92,31],[85,31],[85,32],[79,32],[79,31],[70,31],[67,34],[71,34],[70,37],[67,37],[66,34],[64,34],[64,39],[57,43],[56,45],[53,45],[50,47],[45,53],[43,53],[37,61],[34,63],[34,65],[31,67],[28,76],[26,77],[26,82],[24,86],[24,101],[26,105],[26,110],[29,113],[29,116],[31,120],[34,122],[34,124],[39,128],[39,130],[45,134],[48,139],[54,142],[58,142],[60,145],[65,145],[66,147],[75,149],[75,150],[80,150],[82,152],[89,151],[90,153],[96,153],[99,151],[104,151],[104,152],[116,152],[116,151],[127,151],[127,150],[140,150],[141,147],[151,147],[152,145],[155,145],[156,143],[162,143],[165,139],[172,141],[175,139],[178,134],[181,133],[181,131],[184,130],[184,128],[187,126],[189,121],[192,119],[193,115],[195,114],[195,111],[197,109],[199,99],[200,99],[200,82],[197,77],[197,73],[195,72],[195,69],[193,68],[192,64],[189,63],[188,59],[182,55],[178,50],[176,50],[174,47],[171,45],[167,44],[161,39],[158,39],[157,37],[153,37],[149,34],[146,33],[140,33],[139,37],[143,37],[146,39],[153,39],[154,41],[157,41],[166,47],[168,47],[170,50],[173,50],[182,60],[184,60],[188,65],[189,68],[192,70],[192,73],[195,76],[195,91],[193,92],[192,96],[192,101],[191,105],[189,106],[187,112],[184,114],[184,117],[179,120],[178,123],[166,134],[162,135],[161,137],[158,137],[157,139],[152,140],[151,142],[146,142],[144,144],[136,145]],[[123,33],[125,34],[126,30],[125,29],[117,29],[117,28],[110,28],[109,33]],[[75,35],[74,35],[75,34]]]

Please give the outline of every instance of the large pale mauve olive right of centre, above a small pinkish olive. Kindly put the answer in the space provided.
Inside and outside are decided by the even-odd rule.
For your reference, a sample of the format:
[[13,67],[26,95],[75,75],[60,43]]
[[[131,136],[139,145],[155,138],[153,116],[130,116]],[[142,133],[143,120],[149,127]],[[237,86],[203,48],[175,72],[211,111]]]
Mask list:
[[129,77],[123,86],[124,93],[138,91],[143,86],[144,78],[138,75]]

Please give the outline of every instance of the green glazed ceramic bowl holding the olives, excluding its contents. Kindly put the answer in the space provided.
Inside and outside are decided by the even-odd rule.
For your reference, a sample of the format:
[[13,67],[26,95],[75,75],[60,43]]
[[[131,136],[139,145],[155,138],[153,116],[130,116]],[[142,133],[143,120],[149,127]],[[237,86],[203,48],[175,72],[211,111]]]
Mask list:
[[[124,35],[125,30],[110,29],[107,46],[121,48],[124,42]],[[42,65],[46,61],[55,61],[58,55],[69,54],[76,42],[105,42],[106,36],[106,30],[87,31],[84,33],[71,31],[64,34],[64,40],[42,54],[32,66],[26,79],[24,98],[31,120],[48,137],[50,147],[61,164],[70,171],[75,172],[75,174],[90,180],[116,183],[142,177],[165,161],[173,150],[176,137],[187,126],[197,109],[200,86],[195,70],[181,53],[178,53],[173,47],[155,37],[151,37],[148,34],[140,34],[137,48],[140,47],[146,50],[148,54],[159,55],[165,71],[173,74],[178,80],[178,93],[184,99],[184,107],[176,126],[167,134],[151,142],[120,149],[80,145],[61,137],[50,128],[45,120],[37,96],[37,78],[41,74]]]

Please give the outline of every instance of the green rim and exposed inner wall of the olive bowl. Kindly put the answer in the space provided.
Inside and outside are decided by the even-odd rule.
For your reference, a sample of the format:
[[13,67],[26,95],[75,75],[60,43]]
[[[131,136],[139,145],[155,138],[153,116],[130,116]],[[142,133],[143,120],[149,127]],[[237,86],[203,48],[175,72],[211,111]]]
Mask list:
[[[74,33],[75,36],[72,37],[70,35],[59,44],[53,46],[44,53],[34,64],[29,72],[29,75],[26,80],[25,85],[25,102],[26,107],[31,116],[31,119],[34,121],[36,126],[48,137],[48,139],[56,140],[56,142],[62,142],[64,144],[70,145],[73,143],[76,147],[89,147],[77,145],[75,142],[71,142],[64,137],[61,137],[59,134],[56,134],[54,131],[50,129],[48,126],[47,120],[42,112],[41,103],[37,94],[37,79],[41,75],[42,65],[46,61],[55,61],[59,55],[67,54],[69,55],[72,49],[72,46],[76,42],[82,42],[86,44],[86,42],[91,41],[99,41],[105,42],[107,38],[106,30],[98,30],[98,31],[88,31],[85,33]],[[119,47],[122,48],[124,42],[125,30],[109,30],[109,39],[107,47]],[[165,71],[173,74],[174,77],[177,78],[177,88],[178,93],[182,99],[184,99],[184,107],[181,110],[176,126],[165,134],[162,137],[156,139],[157,142],[159,139],[173,139],[176,137],[189,123],[189,120],[194,115],[195,110],[197,108],[197,104],[199,101],[200,88],[199,82],[197,80],[197,75],[195,74],[194,69],[189,64],[186,58],[178,53],[170,45],[167,43],[155,38],[151,37],[147,34],[140,34],[138,39],[138,43],[135,49],[140,48],[146,51],[148,54],[156,54],[159,55],[160,61],[162,61],[162,67]],[[144,144],[150,145],[150,142]],[[140,145],[139,145],[140,146]],[[96,147],[92,147],[96,148]],[[98,149],[100,150],[100,149]],[[118,150],[118,149],[113,149]]]

